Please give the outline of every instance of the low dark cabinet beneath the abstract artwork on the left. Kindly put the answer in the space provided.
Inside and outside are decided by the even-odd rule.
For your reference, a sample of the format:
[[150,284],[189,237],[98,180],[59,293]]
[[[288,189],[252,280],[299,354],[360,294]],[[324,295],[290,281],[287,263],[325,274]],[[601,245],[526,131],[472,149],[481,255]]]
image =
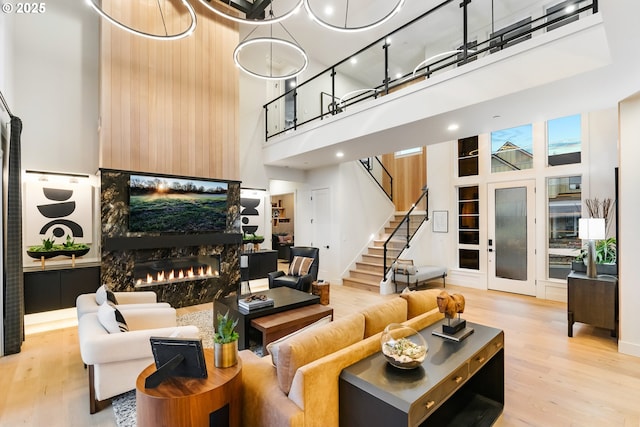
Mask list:
[[75,307],[78,295],[99,286],[99,266],[25,272],[25,314]]

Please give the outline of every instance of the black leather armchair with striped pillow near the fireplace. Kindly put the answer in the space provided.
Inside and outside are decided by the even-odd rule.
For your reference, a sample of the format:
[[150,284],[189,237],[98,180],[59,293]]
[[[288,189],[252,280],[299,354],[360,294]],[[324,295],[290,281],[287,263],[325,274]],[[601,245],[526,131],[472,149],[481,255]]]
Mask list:
[[269,288],[287,286],[303,292],[311,290],[311,283],[318,280],[320,249],[310,246],[293,246],[289,255],[289,271],[269,273]]

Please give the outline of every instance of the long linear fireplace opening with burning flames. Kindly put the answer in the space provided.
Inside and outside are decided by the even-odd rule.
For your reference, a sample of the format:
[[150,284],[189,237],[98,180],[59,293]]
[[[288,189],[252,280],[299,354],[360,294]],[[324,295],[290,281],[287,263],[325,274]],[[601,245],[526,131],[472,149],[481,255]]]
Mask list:
[[133,281],[136,288],[205,280],[219,276],[220,257],[211,255],[138,261],[133,267]]

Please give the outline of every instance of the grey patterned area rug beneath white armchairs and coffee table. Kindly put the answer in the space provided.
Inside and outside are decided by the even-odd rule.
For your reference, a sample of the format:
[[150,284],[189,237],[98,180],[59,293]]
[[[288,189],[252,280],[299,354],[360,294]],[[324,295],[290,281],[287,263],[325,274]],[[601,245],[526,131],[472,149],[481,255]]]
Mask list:
[[[195,311],[178,316],[178,325],[195,325],[200,330],[202,346],[213,348],[213,310]],[[262,355],[262,346],[251,339],[251,350]],[[111,400],[118,427],[136,427],[136,391],[128,391]]]

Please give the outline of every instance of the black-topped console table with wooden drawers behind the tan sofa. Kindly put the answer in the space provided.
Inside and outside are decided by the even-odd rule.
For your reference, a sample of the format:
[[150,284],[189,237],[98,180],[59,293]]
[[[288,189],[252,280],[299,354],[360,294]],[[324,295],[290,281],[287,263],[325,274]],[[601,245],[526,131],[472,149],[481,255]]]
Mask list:
[[422,366],[402,370],[381,352],[340,374],[340,426],[491,426],[504,407],[504,333],[467,322],[461,342],[420,331],[429,345]]

